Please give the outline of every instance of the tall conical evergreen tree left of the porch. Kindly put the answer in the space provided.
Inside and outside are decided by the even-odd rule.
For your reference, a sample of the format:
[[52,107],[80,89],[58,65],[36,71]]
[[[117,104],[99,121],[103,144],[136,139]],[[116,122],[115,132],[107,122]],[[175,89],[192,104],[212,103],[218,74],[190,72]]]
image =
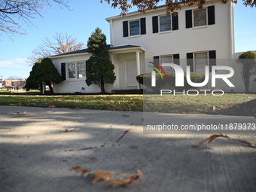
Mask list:
[[87,41],[87,51],[92,53],[87,60],[87,79],[86,84],[97,84],[101,93],[105,93],[105,84],[114,84],[114,65],[109,59],[106,36],[102,30],[96,28]]

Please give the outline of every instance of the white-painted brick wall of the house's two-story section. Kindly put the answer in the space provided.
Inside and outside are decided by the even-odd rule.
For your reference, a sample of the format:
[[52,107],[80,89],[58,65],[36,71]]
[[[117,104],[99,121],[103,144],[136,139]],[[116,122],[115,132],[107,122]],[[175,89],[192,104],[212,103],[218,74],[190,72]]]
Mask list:
[[[151,72],[148,61],[153,61],[153,56],[179,54],[180,66],[184,69],[187,66],[187,53],[216,50],[217,66],[231,66],[233,53],[233,5],[220,2],[208,2],[206,7],[215,5],[215,24],[197,28],[186,29],[185,11],[194,10],[197,7],[182,6],[178,11],[178,30],[171,32],[153,33],[152,17],[166,14],[165,8],[147,11],[146,14],[131,13],[126,17],[111,17],[107,20],[111,23],[111,42],[114,46],[125,44],[139,45],[146,50],[145,63],[142,63],[145,71]],[[135,37],[123,38],[123,21],[146,18],[146,34]],[[236,86],[236,78],[230,78]],[[239,83],[237,83],[239,84]],[[210,86],[209,86],[210,87]],[[240,86],[239,86],[240,87]],[[219,81],[216,89],[230,91],[235,88]],[[240,89],[239,89],[240,90]]]

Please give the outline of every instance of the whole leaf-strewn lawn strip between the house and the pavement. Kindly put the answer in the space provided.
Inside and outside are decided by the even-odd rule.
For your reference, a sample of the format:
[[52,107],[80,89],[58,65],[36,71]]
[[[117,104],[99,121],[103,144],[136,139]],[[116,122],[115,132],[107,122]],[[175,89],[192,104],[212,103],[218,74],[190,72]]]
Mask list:
[[[30,94],[30,95],[29,95]],[[93,95],[42,96],[32,93],[0,92],[0,105],[87,108],[115,111],[154,111],[181,114],[218,114],[221,110],[256,99],[256,94],[228,94],[212,96],[183,95]],[[215,106],[212,111],[207,108]]]

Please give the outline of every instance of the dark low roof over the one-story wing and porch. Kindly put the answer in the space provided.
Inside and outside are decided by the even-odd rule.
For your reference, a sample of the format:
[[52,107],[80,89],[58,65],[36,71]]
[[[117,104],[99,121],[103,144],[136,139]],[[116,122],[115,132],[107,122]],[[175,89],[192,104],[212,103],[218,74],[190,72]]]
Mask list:
[[[134,49],[134,48],[142,49],[139,45],[131,45],[131,44],[126,44],[126,45],[117,46],[117,47],[111,47],[110,44],[108,44],[107,48],[109,51],[127,50],[127,49],[129,50],[129,49]],[[90,54],[90,53],[88,53],[87,49],[82,49],[82,50],[75,50],[75,51],[72,51],[69,53],[62,53],[62,54],[58,54],[58,55],[49,56],[49,58],[53,59],[53,58],[58,58],[58,57],[76,56],[76,55],[81,55],[81,54]]]

